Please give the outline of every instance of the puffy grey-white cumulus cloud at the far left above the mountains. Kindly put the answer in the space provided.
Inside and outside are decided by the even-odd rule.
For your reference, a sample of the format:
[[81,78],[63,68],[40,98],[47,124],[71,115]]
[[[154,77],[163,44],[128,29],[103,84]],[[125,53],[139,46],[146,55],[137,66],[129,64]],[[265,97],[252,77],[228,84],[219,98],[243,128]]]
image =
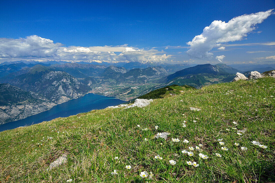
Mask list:
[[52,57],[60,46],[61,43],[53,43],[37,35],[19,39],[0,38],[0,58]]

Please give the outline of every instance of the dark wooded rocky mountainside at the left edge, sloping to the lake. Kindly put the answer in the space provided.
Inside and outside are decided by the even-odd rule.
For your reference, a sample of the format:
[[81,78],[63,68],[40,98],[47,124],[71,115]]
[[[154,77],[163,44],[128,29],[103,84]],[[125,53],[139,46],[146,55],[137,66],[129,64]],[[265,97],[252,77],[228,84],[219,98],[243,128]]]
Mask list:
[[33,92],[0,84],[0,124],[23,119],[51,109],[56,103]]

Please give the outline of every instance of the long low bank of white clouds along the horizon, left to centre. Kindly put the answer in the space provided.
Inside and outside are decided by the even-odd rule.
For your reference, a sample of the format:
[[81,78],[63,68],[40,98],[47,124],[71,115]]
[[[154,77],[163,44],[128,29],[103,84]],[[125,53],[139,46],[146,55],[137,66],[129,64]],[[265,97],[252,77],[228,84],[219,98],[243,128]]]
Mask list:
[[0,60],[46,58],[53,60],[98,60],[98,61],[170,61],[171,55],[166,55],[155,49],[144,50],[119,46],[68,46],[54,43],[50,39],[37,35],[26,38],[0,38]]

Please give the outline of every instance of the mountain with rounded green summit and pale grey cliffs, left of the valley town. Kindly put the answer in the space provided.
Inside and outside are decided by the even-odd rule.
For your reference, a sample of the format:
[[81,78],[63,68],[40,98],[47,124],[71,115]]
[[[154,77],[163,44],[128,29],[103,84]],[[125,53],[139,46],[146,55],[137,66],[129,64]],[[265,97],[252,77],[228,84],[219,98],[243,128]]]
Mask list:
[[57,104],[83,96],[89,90],[89,86],[79,82],[72,75],[41,65],[31,67],[27,73],[6,82],[24,91],[43,95]]

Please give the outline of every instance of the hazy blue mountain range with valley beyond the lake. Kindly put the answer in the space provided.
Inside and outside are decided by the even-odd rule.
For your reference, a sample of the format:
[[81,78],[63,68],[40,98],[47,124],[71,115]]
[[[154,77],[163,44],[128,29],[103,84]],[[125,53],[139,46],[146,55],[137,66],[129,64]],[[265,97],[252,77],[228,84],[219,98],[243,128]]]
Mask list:
[[[231,81],[236,72],[241,72],[226,64],[189,67],[189,64],[152,62],[114,63],[116,66],[105,62],[94,63],[31,61],[2,64],[0,83],[6,84],[1,85],[0,96],[7,98],[12,93],[10,97],[15,98],[8,103],[3,102],[5,98],[1,99],[1,114],[6,116],[2,122],[22,119],[89,92],[131,100],[169,85],[200,88],[203,85]],[[23,110],[31,108],[27,105],[28,101],[32,101],[29,104],[35,106],[32,112]]]

